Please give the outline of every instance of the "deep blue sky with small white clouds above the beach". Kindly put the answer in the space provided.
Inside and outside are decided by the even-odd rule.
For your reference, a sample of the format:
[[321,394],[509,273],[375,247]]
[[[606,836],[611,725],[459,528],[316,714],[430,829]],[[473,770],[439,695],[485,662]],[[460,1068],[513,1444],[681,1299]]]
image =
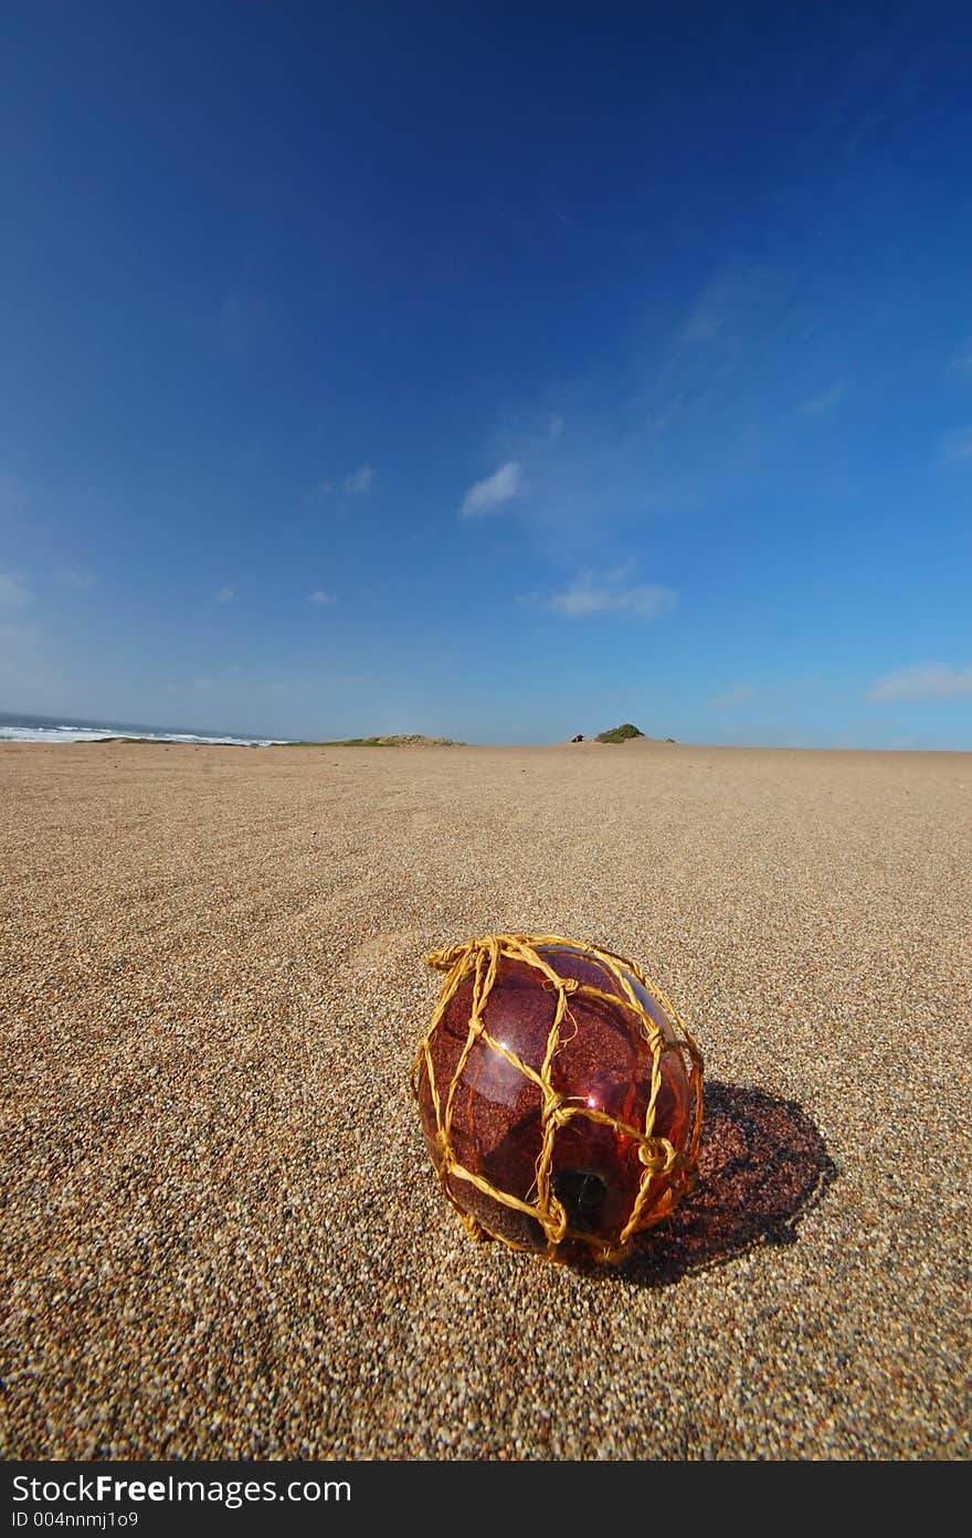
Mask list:
[[8,6],[0,709],[972,749],[970,45]]

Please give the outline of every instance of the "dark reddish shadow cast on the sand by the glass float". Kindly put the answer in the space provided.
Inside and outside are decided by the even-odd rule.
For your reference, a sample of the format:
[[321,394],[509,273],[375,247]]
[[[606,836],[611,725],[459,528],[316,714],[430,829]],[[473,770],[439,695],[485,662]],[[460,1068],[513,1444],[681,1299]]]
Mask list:
[[837,1177],[820,1132],[794,1100],[718,1081],[704,1097],[695,1190],[621,1264],[581,1270],[664,1287],[757,1246],[797,1241],[798,1220]]

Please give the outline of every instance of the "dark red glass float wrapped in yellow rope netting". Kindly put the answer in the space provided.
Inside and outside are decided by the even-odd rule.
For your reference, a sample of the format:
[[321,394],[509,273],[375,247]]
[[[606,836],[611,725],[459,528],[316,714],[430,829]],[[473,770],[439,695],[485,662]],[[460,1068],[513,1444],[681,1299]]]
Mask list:
[[477,1237],[623,1258],[695,1180],[695,1043],[608,952],[560,938],[454,950],[412,1080],[444,1193]]

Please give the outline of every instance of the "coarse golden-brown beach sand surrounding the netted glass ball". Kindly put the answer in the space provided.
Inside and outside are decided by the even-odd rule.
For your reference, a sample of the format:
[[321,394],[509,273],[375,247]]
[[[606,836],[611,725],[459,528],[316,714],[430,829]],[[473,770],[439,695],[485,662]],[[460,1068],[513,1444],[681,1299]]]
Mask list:
[[[6,1460],[967,1460],[972,755],[0,747]],[[426,952],[706,1058],[623,1266],[477,1244]]]

